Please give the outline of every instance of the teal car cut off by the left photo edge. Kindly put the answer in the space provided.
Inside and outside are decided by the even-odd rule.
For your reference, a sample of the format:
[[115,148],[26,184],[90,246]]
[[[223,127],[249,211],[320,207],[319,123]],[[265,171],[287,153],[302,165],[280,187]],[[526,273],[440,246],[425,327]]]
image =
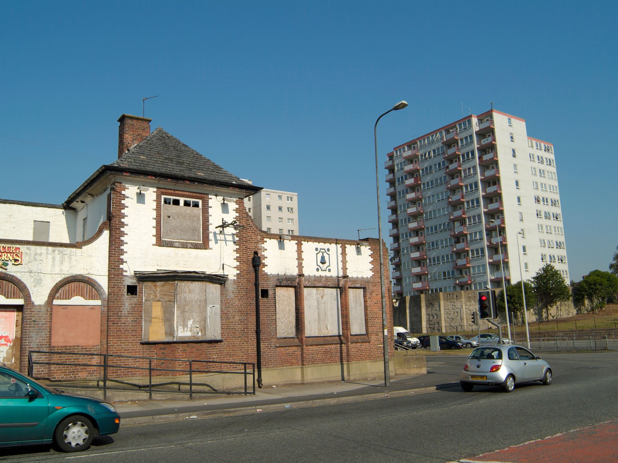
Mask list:
[[55,443],[78,452],[119,427],[111,404],[64,394],[0,364],[0,448]]

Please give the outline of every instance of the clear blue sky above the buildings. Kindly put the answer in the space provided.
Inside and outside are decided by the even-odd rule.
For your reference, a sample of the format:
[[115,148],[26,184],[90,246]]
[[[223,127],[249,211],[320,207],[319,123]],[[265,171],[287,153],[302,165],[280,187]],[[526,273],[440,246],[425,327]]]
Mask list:
[[[303,235],[376,227],[386,153],[468,111],[554,143],[571,278],[618,245],[616,2],[1,2],[0,198],[60,203],[142,114],[299,195]],[[74,151],[73,154],[34,143]],[[380,169],[384,205],[387,197]],[[384,229],[386,209],[384,211]],[[377,236],[375,230],[365,234]],[[389,238],[387,238],[389,241]]]

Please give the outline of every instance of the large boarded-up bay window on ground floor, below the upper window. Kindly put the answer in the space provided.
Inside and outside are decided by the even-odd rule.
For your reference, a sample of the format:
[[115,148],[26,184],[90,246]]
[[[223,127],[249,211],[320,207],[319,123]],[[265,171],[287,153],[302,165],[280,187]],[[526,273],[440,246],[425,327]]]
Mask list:
[[143,340],[220,340],[220,290],[208,282],[144,283]]

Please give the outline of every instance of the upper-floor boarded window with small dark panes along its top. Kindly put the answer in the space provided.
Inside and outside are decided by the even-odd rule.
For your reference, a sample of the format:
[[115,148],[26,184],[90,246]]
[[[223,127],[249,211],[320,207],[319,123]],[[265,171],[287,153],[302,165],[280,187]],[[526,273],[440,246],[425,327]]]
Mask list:
[[201,201],[163,197],[161,239],[201,241]]

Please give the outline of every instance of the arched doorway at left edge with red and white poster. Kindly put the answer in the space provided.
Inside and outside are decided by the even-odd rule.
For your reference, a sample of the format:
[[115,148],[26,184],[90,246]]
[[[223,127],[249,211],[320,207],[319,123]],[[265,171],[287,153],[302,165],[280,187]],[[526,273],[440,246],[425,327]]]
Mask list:
[[22,314],[22,291],[0,280],[0,362],[15,370],[19,370]]

